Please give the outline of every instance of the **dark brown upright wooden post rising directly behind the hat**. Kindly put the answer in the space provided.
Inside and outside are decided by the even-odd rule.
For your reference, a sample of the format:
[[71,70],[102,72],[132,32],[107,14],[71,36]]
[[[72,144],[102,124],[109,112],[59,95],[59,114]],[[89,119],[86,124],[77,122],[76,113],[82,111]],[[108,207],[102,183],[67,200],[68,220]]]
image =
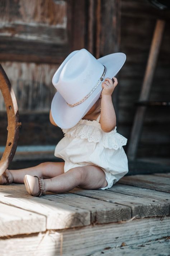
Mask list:
[[[87,49],[96,59],[119,51],[121,40],[121,0],[88,1]],[[117,76],[118,77],[118,76]],[[117,86],[112,94],[118,122]]]

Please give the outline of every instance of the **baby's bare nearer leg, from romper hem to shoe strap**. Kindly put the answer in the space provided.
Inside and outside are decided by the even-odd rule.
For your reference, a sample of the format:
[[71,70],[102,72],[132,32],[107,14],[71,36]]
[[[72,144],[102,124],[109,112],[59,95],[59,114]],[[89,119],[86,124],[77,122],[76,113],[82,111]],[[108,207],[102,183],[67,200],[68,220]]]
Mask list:
[[95,165],[75,167],[52,179],[46,179],[46,191],[64,193],[80,188],[98,189],[107,186],[104,171]]

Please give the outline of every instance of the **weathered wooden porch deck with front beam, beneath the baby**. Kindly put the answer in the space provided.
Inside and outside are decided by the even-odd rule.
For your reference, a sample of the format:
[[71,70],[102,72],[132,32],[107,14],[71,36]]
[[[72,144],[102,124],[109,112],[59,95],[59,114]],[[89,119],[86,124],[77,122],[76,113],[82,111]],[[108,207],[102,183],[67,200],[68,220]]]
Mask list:
[[[144,247],[144,248],[143,248]],[[170,173],[30,196],[0,186],[0,255],[170,255]]]

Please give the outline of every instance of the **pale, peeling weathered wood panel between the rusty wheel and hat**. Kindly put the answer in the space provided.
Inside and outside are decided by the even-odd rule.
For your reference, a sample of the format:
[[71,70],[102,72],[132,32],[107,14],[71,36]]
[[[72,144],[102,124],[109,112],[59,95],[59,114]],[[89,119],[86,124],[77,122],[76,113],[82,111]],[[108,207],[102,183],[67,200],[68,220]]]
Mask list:
[[[56,93],[52,76],[58,65],[24,62],[1,63],[13,87],[19,111],[49,111],[51,100]],[[4,100],[0,97],[0,110],[5,111]]]

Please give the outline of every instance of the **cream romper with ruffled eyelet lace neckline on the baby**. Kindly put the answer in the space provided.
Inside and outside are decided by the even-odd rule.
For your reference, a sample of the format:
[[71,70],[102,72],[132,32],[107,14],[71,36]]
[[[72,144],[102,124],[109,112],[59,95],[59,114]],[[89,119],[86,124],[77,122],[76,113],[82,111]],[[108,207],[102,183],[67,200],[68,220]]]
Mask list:
[[75,126],[62,129],[64,137],[58,142],[54,155],[65,161],[64,172],[73,167],[97,165],[105,172],[107,189],[128,172],[128,160],[123,145],[127,139],[115,127],[105,133],[97,120],[81,119]]

